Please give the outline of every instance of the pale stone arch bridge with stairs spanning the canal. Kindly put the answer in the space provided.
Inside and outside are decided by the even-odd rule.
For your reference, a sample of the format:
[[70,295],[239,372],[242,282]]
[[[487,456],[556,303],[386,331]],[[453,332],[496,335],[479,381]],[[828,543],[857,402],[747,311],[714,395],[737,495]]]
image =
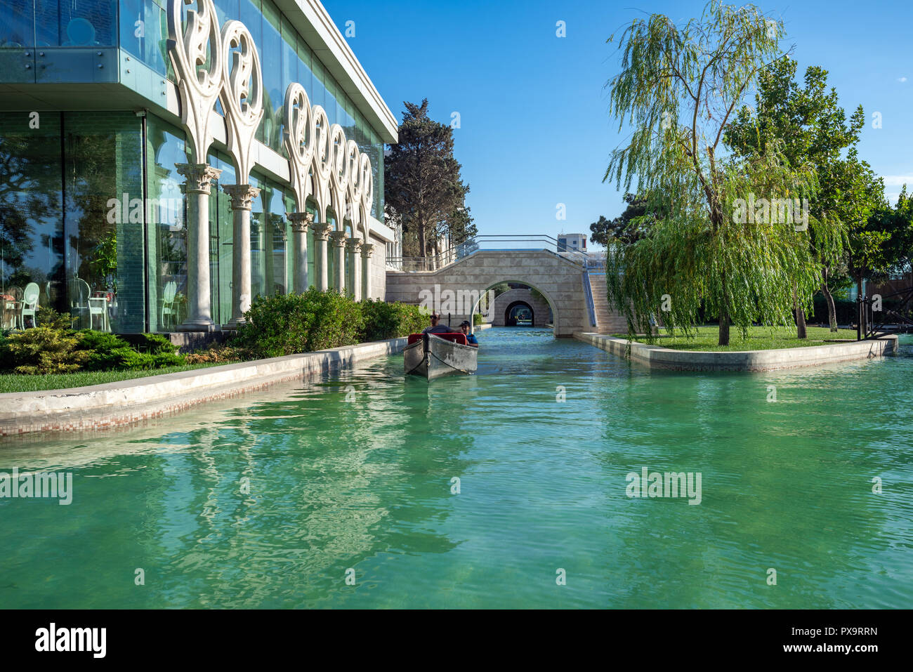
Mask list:
[[[604,275],[598,278],[594,284],[604,295]],[[604,314],[597,312],[585,262],[548,249],[477,250],[436,270],[388,269],[386,279],[386,300],[425,305],[443,313],[445,320],[449,314],[453,327],[472,321],[486,290],[500,282],[519,282],[549,302],[556,337],[571,337],[576,331],[627,331],[624,319],[607,305]]]

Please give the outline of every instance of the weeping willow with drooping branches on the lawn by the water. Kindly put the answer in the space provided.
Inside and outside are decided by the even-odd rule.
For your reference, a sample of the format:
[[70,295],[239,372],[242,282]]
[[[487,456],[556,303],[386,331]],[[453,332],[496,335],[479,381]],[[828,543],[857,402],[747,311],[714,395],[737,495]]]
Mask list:
[[728,345],[730,324],[744,337],[753,322],[791,323],[793,289],[810,303],[820,276],[802,206],[815,193],[813,166],[791,164],[777,139],[740,156],[720,144],[733,110],[781,56],[782,35],[753,5],[717,0],[684,26],[654,14],[624,30],[622,68],[606,87],[619,130],[632,132],[603,181],[629,191],[636,180],[646,212],[662,214],[640,240],[609,247],[609,300],[632,334],[651,334],[656,315],[688,334],[703,305]]

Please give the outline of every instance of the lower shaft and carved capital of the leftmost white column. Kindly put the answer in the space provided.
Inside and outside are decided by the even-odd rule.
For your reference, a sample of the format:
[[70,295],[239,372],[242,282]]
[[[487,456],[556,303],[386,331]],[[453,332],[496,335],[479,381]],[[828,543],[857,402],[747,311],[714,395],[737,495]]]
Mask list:
[[222,171],[206,163],[177,163],[187,194],[187,319],[177,331],[215,331],[209,289],[209,191]]

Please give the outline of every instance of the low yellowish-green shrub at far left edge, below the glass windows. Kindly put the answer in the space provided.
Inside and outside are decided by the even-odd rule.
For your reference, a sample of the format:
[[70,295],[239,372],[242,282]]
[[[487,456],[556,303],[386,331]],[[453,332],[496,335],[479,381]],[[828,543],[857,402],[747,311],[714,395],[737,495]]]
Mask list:
[[5,337],[0,353],[4,369],[14,373],[72,373],[89,359],[72,331],[36,327]]

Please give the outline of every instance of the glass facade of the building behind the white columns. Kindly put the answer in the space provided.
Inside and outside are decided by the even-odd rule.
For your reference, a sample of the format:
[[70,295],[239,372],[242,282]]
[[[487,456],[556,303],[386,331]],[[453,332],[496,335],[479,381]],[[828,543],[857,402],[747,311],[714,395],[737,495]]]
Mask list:
[[[37,286],[39,305],[68,312],[75,327],[173,331],[187,300],[187,204],[176,165],[188,162],[188,150],[180,125],[156,113],[164,107],[164,82],[174,80],[164,0],[0,0],[0,6],[0,83],[25,85],[20,90],[118,84],[137,101],[110,106],[100,95],[97,110],[0,110],[0,329],[30,326],[20,324],[29,321],[20,307],[26,289],[34,293]],[[259,50],[265,112],[257,141],[287,157],[282,106],[289,83],[298,81],[311,104],[320,104],[370,157],[371,215],[383,222],[381,134],[272,0],[215,0],[215,7],[220,25],[240,19]],[[235,167],[215,146],[207,162],[222,171],[209,221],[212,317],[224,324],[231,317],[234,241],[230,199],[221,187],[236,183]],[[260,189],[250,226],[253,294],[288,292],[286,213],[296,209],[294,194],[257,166],[248,182]],[[320,222],[317,205],[308,209]],[[331,212],[323,216],[336,224]]]

